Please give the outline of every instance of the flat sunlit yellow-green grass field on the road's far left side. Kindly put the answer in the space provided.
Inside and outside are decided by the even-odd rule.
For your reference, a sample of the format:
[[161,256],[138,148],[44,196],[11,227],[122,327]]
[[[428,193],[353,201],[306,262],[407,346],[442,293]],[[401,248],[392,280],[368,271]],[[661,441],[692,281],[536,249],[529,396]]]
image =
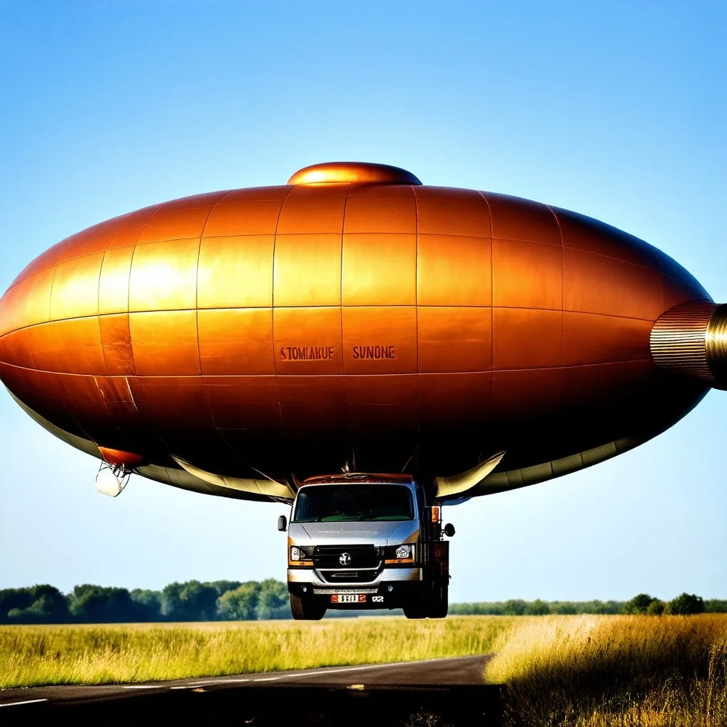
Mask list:
[[470,656],[512,619],[331,619],[0,627],[0,688],[102,684]]

